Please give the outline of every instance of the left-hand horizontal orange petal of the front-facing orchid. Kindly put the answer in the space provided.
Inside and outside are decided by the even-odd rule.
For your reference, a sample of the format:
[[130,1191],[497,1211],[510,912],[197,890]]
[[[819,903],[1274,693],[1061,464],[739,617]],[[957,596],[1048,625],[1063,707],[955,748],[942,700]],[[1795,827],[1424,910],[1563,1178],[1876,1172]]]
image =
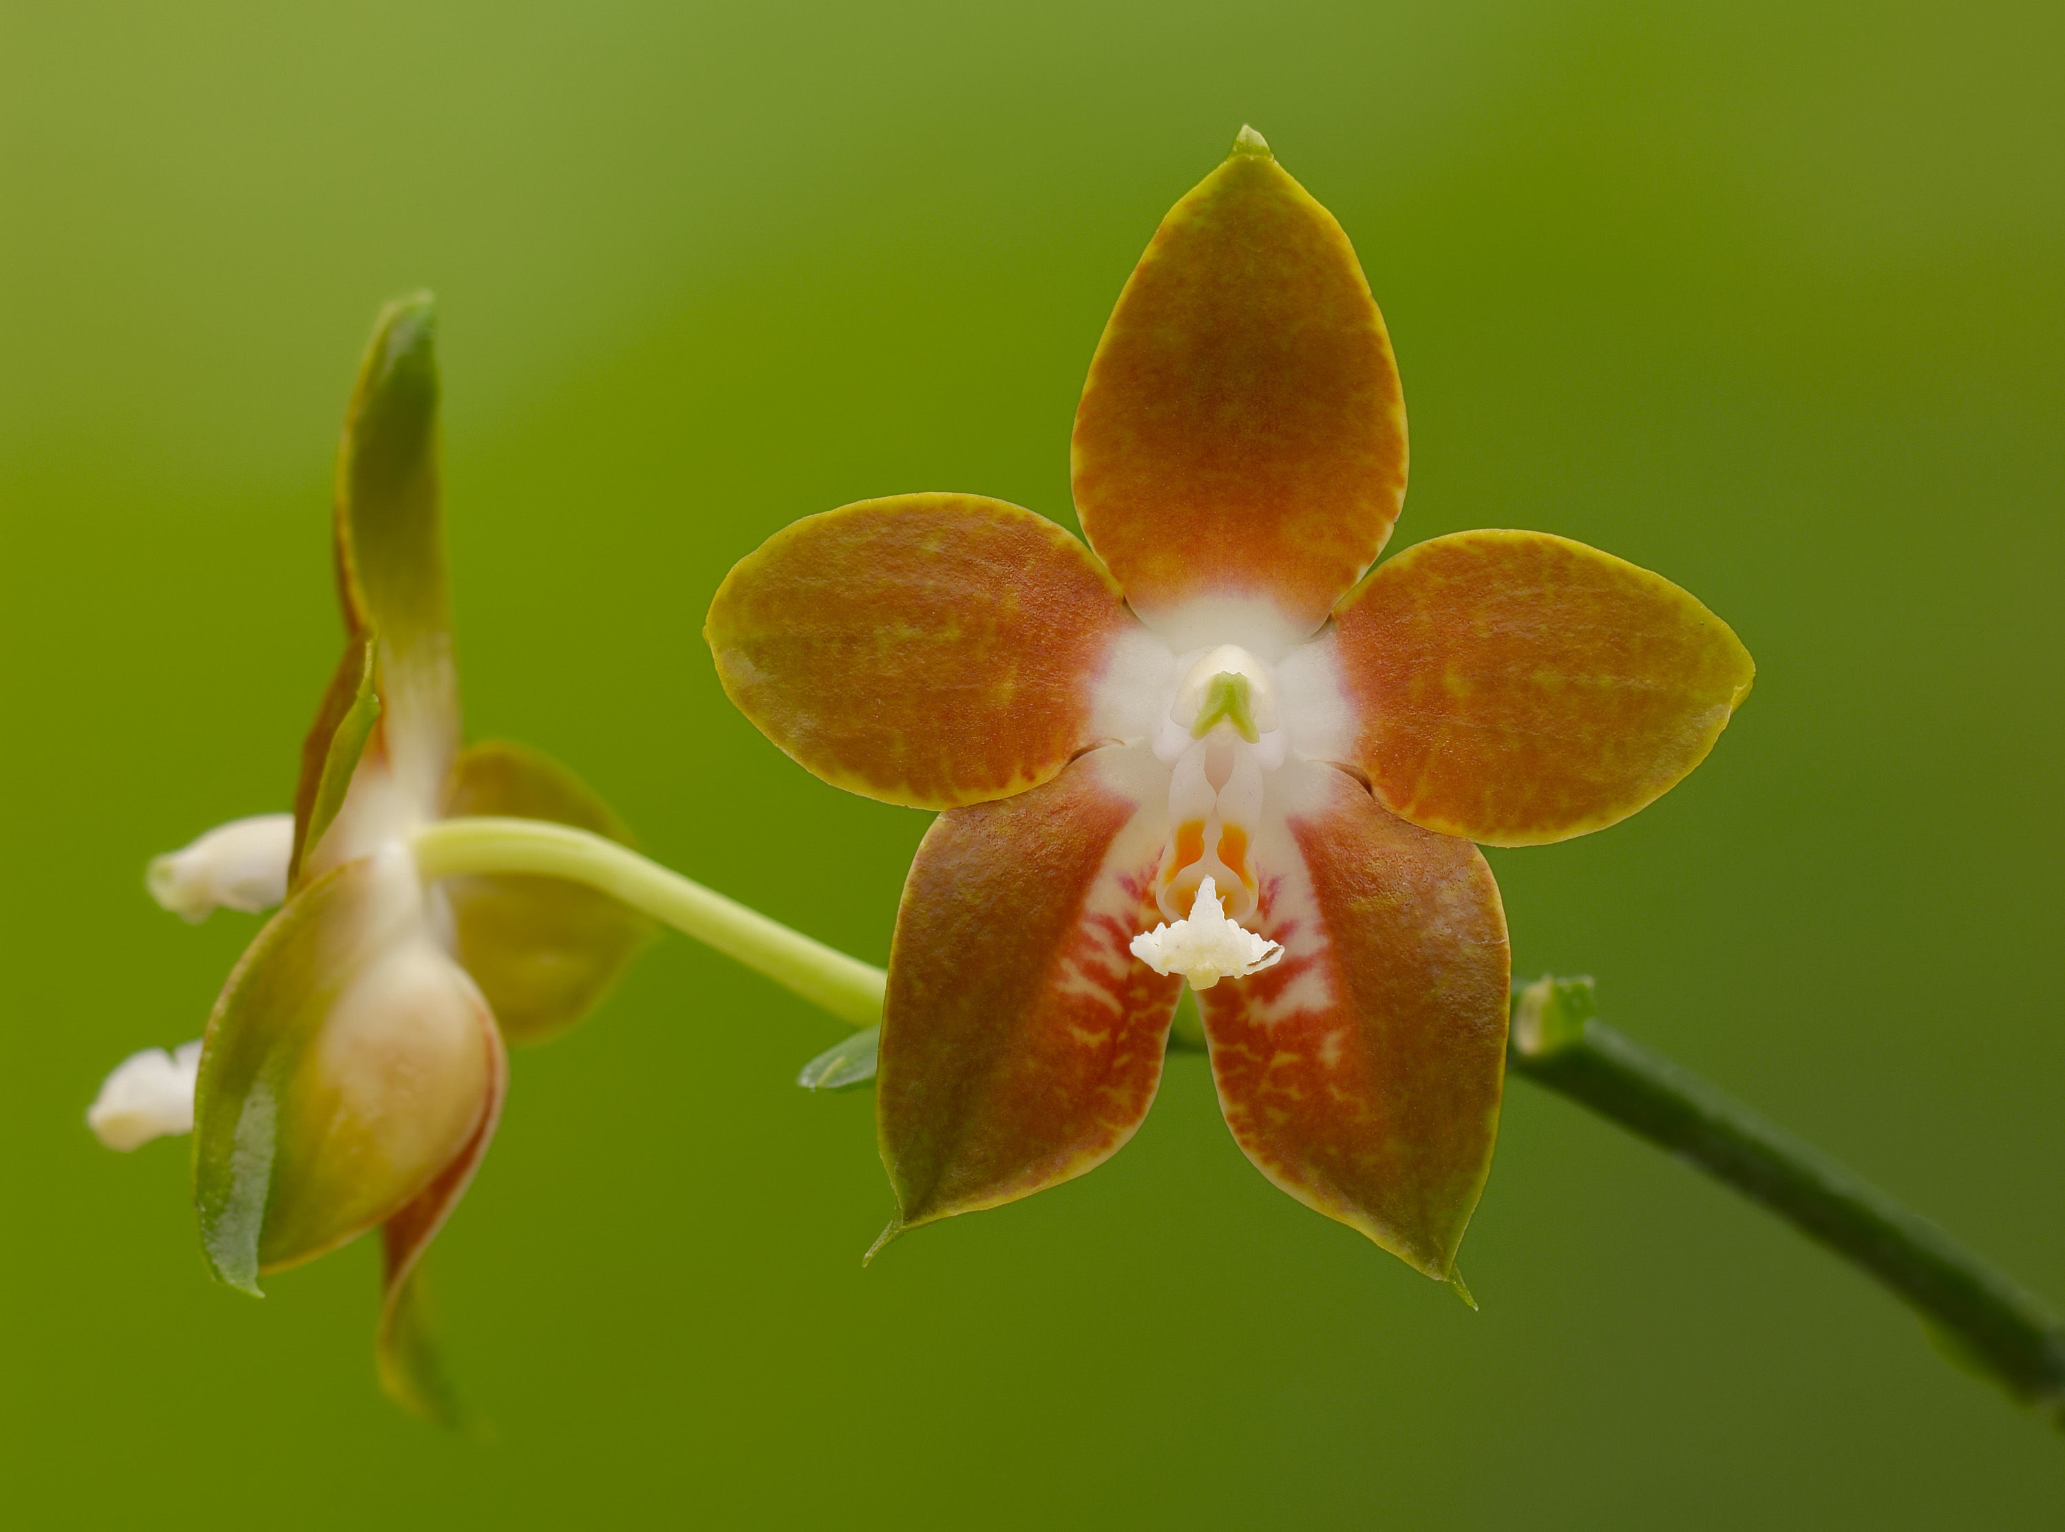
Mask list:
[[704,636],[725,694],[834,787],[944,809],[1045,783],[1136,630],[1097,560],[1030,510],[896,496],[739,560]]

